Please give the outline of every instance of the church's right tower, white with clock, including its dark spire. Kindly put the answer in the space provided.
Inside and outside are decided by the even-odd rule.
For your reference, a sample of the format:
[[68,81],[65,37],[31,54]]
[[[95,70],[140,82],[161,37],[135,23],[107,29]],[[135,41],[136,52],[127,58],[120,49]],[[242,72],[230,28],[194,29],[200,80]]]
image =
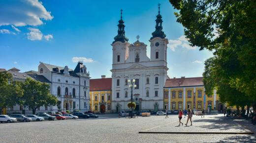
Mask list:
[[162,31],[162,16],[160,15],[160,4],[158,4],[158,15],[156,20],[156,30],[150,38],[150,61],[161,61],[162,66],[167,66],[167,44],[168,39]]

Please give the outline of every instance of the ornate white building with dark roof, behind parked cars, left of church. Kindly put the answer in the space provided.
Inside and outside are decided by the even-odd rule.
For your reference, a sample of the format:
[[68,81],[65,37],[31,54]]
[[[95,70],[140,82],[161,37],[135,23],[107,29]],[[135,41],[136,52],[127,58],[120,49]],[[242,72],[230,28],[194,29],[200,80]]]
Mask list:
[[82,62],[78,62],[75,70],[40,62],[38,74],[51,82],[51,94],[58,97],[59,103],[53,107],[54,111],[84,112],[90,109],[90,74]]

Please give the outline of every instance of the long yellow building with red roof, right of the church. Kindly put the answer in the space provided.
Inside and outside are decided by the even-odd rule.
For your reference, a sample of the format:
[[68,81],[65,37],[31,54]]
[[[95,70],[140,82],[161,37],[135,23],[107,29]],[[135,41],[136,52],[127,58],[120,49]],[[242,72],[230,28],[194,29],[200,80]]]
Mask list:
[[168,110],[196,109],[223,111],[224,104],[219,101],[219,96],[214,91],[214,95],[207,96],[204,93],[203,77],[191,78],[169,78],[164,86],[163,106]]

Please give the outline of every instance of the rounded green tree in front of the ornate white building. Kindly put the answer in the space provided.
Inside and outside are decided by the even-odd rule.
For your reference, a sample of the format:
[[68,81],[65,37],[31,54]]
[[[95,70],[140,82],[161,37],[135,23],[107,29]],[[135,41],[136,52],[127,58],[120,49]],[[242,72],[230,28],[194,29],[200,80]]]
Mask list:
[[24,90],[23,104],[32,108],[33,114],[40,106],[53,104],[51,97],[53,95],[50,94],[50,85],[48,83],[27,78],[22,88]]

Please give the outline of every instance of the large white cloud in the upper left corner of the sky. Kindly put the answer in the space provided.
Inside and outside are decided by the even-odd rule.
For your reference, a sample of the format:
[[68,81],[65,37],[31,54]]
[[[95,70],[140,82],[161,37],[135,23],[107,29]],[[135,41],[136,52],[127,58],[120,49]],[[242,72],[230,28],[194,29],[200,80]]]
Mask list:
[[51,12],[38,0],[0,0],[0,26],[35,26],[43,24],[42,20],[52,19]]

